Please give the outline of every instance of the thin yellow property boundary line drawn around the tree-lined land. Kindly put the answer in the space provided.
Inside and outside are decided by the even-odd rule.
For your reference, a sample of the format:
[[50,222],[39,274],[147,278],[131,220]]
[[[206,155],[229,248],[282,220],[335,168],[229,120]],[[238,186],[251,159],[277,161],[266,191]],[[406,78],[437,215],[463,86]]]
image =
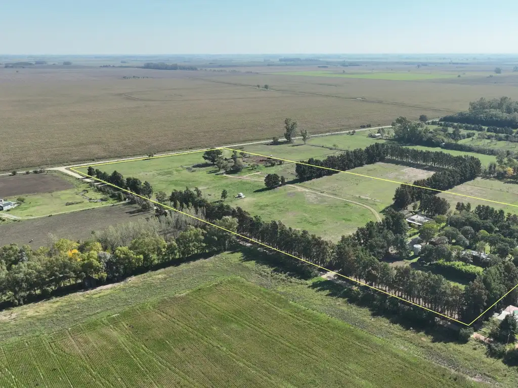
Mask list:
[[385,181],[385,182],[392,182],[392,183],[396,183],[396,184],[400,184],[400,185],[406,185],[406,186],[412,186],[412,187],[419,187],[419,188],[423,188],[423,189],[427,189],[427,190],[433,190],[433,191],[439,191],[439,192],[444,192],[444,193],[447,193],[447,194],[453,194],[453,195],[456,195],[456,196],[461,196],[461,197],[467,197],[467,198],[473,198],[473,199],[479,199],[479,200],[482,200],[482,201],[487,201],[487,202],[493,202],[493,203],[499,203],[499,204],[502,204],[502,205],[508,205],[508,206],[514,206],[514,207],[518,207],[518,205],[513,205],[511,203],[506,203],[506,202],[498,202],[498,201],[493,201],[493,200],[489,200],[489,199],[484,199],[484,198],[478,198],[478,197],[472,197],[472,196],[468,196],[468,195],[464,195],[464,194],[459,194],[459,193],[455,193],[455,192],[447,192],[447,191],[444,191],[444,190],[438,190],[438,189],[432,189],[432,188],[429,188],[429,187],[424,187],[424,186],[417,186],[417,185],[412,185],[410,183],[404,183],[404,182],[397,182],[397,181],[391,181],[389,179],[384,179],[384,178],[378,178],[376,176],[370,176],[370,175],[363,175],[363,174],[357,174],[357,173],[354,173],[354,172],[350,172],[350,171],[342,171],[342,170],[337,170],[337,169],[333,169],[333,168],[328,168],[328,167],[321,167],[321,166],[314,166],[314,165],[310,165],[308,163],[303,163],[303,162],[297,162],[297,161],[294,161],[294,160],[289,160],[289,159],[281,159],[281,158],[276,158],[274,156],[266,156],[266,155],[261,155],[261,154],[255,154],[255,153],[252,153],[252,152],[248,152],[248,151],[243,151],[243,150],[234,150],[234,148],[227,148],[227,147],[217,147],[217,148],[205,148],[204,150],[197,150],[197,151],[187,151],[187,152],[180,152],[180,153],[176,153],[176,154],[167,154],[167,155],[159,155],[159,156],[151,156],[151,157],[142,157],[142,158],[134,158],[134,159],[124,159],[124,160],[117,160],[117,161],[111,161],[111,162],[103,162],[103,163],[95,163],[95,164],[90,164],[90,165],[83,165],[83,166],[76,166],[76,167],[70,167],[70,170],[71,171],[74,171],[75,173],[77,174],[80,174],[80,175],[83,175],[85,177],[89,177],[95,181],[98,181],[98,182],[102,182],[106,185],[109,185],[109,186],[112,186],[114,188],[117,188],[118,190],[121,190],[121,191],[125,191],[127,193],[130,193],[136,197],[139,197],[139,198],[142,198],[142,199],[145,199],[151,203],[154,203],[156,205],[160,205],[162,207],[165,207],[169,210],[172,210],[172,211],[175,211],[177,213],[180,213],[180,214],[183,214],[185,216],[188,216],[188,217],[191,217],[191,218],[194,218],[198,221],[201,221],[201,222],[205,222],[207,223],[208,225],[214,227],[214,228],[218,228],[218,229],[221,229],[221,230],[224,230],[225,232],[228,232],[228,233],[231,233],[231,234],[234,234],[236,236],[239,236],[241,238],[244,238],[245,240],[248,240],[248,241],[251,241],[252,243],[255,243],[255,244],[259,244],[259,245],[262,245],[268,249],[272,249],[272,250],[275,250],[277,252],[280,252],[280,253],[283,253],[284,255],[287,255],[287,256],[290,256],[294,259],[297,259],[297,260],[300,260],[302,262],[305,262],[307,264],[310,264],[310,265],[313,265],[317,268],[320,268],[321,270],[324,270],[328,273],[332,273],[334,275],[337,275],[337,276],[340,276],[344,279],[348,279],[348,280],[351,280],[351,281],[354,281],[356,283],[358,283],[359,285],[362,285],[362,286],[365,286],[365,287],[368,287],[370,289],[373,289],[373,290],[376,290],[376,291],[379,291],[383,294],[386,294],[386,295],[389,295],[389,296],[392,296],[392,297],[395,297],[396,299],[399,299],[401,301],[404,301],[406,303],[410,303],[411,305],[414,305],[414,306],[417,306],[417,307],[420,307],[422,309],[425,309],[427,311],[430,311],[430,312],[433,312],[434,314],[437,314],[443,318],[447,318],[447,319],[450,319],[452,321],[455,321],[457,323],[461,323],[463,325],[466,325],[466,326],[470,326],[472,325],[475,321],[477,321],[477,319],[479,319],[480,317],[482,317],[487,311],[489,311],[493,306],[495,306],[498,302],[500,302],[504,297],[506,297],[511,291],[513,291],[515,288],[518,287],[518,284],[516,286],[514,286],[513,288],[511,288],[508,292],[506,292],[505,294],[503,294],[500,299],[498,299],[495,303],[493,303],[490,307],[488,307],[485,311],[482,312],[482,314],[480,314],[477,318],[473,319],[470,323],[465,323],[465,322],[462,322],[462,321],[459,321],[455,318],[452,318],[452,317],[448,317],[447,315],[444,315],[444,314],[441,314],[440,312],[438,311],[434,311],[434,310],[431,310],[427,307],[424,307],[424,306],[421,306],[417,303],[414,303],[414,302],[411,302],[411,301],[408,301],[400,296],[397,296],[397,295],[394,295],[394,294],[391,294],[389,292],[386,292],[386,291],[383,291],[379,288],[376,288],[376,287],[373,287],[373,286],[369,286],[368,284],[362,282],[362,281],[359,281],[359,280],[355,280],[349,276],[345,276],[345,275],[342,275],[342,274],[339,274],[338,272],[335,272],[335,271],[331,271],[331,270],[328,270],[327,268],[321,266],[321,265],[318,265],[318,264],[314,264],[314,263],[311,263],[310,261],[308,260],[305,260],[305,259],[302,259],[300,257],[297,257],[297,256],[294,256],[294,255],[291,255],[290,253],[287,253],[287,252],[284,252],[280,249],[277,249],[277,248],[274,248],[274,247],[271,247],[267,244],[264,244],[264,243],[261,243],[261,242],[258,242],[256,240],[253,240],[253,238],[250,238],[250,237],[247,237],[247,236],[243,236],[242,234],[239,234],[239,233],[236,233],[236,232],[233,232],[231,230],[228,230],[228,229],[225,229],[225,228],[222,228],[218,225],[215,225],[214,223],[212,222],[209,222],[209,221],[206,221],[204,219],[201,219],[201,218],[198,218],[198,217],[195,217],[191,214],[188,214],[188,213],[184,213],[178,209],[175,209],[174,207],[171,207],[171,206],[167,206],[167,205],[164,205],[160,202],[157,202],[157,201],[154,201],[152,199],[149,199],[147,197],[144,197],[144,196],[141,196],[141,195],[138,195],[130,190],[127,190],[127,189],[123,189],[122,187],[119,187],[119,186],[116,186],[116,185],[113,185],[111,183],[108,183],[108,182],[105,182],[103,180],[100,180],[94,176],[91,176],[91,175],[88,175],[88,174],[85,174],[84,172],[81,172],[81,171],[78,171],[77,169],[81,169],[81,168],[87,168],[87,167],[97,167],[97,166],[106,166],[106,165],[114,165],[114,164],[117,164],[117,163],[125,163],[125,162],[132,162],[132,161],[139,161],[139,160],[149,160],[149,159],[156,159],[156,158],[164,158],[164,157],[167,157],[167,156],[180,156],[180,155],[186,155],[186,154],[195,154],[195,153],[200,153],[200,152],[205,152],[205,151],[209,151],[209,150],[227,150],[227,151],[236,151],[236,152],[244,152],[244,153],[247,153],[247,154],[250,154],[250,155],[255,155],[255,156],[262,156],[262,157],[265,157],[265,158],[270,158],[270,159],[276,159],[276,160],[282,160],[282,161],[285,161],[285,162],[290,162],[290,163],[298,163],[299,165],[305,165],[305,166],[310,166],[310,167],[318,167],[318,168],[322,168],[322,169],[325,169],[325,170],[330,170],[330,171],[336,171],[336,172],[341,172],[341,173],[346,173],[346,174],[351,174],[351,175],[356,175],[356,176],[363,176],[363,177],[366,177],[366,178],[371,178],[371,179],[376,179],[376,180],[379,180],[379,181]]

